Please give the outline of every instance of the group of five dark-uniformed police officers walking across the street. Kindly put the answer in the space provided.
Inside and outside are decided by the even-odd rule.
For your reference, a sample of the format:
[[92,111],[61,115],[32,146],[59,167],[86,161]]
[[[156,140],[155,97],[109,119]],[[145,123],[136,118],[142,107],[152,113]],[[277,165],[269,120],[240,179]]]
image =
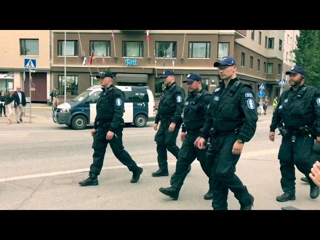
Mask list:
[[[202,88],[201,77],[189,73],[186,82],[188,95],[175,82],[175,73],[165,70],[162,78],[166,88],[161,96],[153,129],[157,130],[156,142],[159,169],[152,176],[167,176],[167,150],[177,159],[175,172],[170,178],[170,187],[159,191],[177,200],[183,181],[190,171],[190,164],[197,158],[208,177],[209,189],[204,199],[212,199],[213,209],[227,209],[227,194],[230,189],[240,203],[240,209],[251,209],[253,196],[235,174],[235,165],[243,144],[255,132],[256,100],[252,87],[236,77],[236,62],[231,56],[214,62],[222,81],[212,94]],[[269,138],[274,141],[274,130],[281,129],[280,159],[281,186],[284,194],[277,201],[295,199],[294,164],[305,174],[310,184],[310,197],[319,195],[317,187],[308,174],[315,162],[312,156],[314,139],[320,142],[320,90],[304,85],[305,71],[295,66],[286,72],[290,75],[290,89],[280,96],[270,125]],[[112,84],[111,72],[100,72],[103,91],[97,98],[96,117],[91,131],[93,136],[93,163],[89,177],[79,184],[97,185],[105,148],[110,143],[114,155],[132,171],[131,182],[137,182],[142,168],[138,167],[122,145],[124,93]],[[183,120],[182,115],[183,113]],[[158,123],[161,122],[158,127]],[[176,145],[180,126],[182,146]],[[315,129],[314,131],[312,129]]]

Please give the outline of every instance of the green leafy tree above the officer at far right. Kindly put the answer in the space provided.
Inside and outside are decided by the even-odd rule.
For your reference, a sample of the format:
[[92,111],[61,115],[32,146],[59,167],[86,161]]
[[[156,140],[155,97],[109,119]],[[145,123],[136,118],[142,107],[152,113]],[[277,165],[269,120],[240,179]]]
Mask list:
[[320,30],[300,30],[295,64],[306,70],[305,83],[320,88]]

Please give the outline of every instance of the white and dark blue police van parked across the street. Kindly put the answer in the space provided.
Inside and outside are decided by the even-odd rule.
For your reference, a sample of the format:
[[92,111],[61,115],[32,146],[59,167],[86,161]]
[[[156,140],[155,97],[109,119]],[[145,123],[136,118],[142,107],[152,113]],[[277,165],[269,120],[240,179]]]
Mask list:
[[[116,86],[124,92],[124,123],[144,127],[147,121],[154,121],[155,108],[152,92],[146,86]],[[81,130],[93,124],[96,116],[96,100],[101,93],[100,85],[87,88],[73,100],[64,102],[53,111],[53,121]]]

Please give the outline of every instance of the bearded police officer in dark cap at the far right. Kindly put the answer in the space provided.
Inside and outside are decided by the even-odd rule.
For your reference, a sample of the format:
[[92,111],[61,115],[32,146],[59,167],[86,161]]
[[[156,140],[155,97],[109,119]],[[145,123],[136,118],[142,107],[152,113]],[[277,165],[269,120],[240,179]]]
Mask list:
[[319,187],[309,177],[310,168],[315,162],[312,156],[314,138],[300,127],[306,125],[315,128],[316,141],[320,142],[320,90],[304,84],[306,72],[300,66],[293,66],[285,74],[290,75],[290,88],[280,96],[269,133],[269,139],[274,141],[274,130],[282,119],[286,132],[282,133],[278,159],[284,193],[275,198],[281,202],[295,200],[294,165],[308,179],[310,197],[316,198],[319,195]]

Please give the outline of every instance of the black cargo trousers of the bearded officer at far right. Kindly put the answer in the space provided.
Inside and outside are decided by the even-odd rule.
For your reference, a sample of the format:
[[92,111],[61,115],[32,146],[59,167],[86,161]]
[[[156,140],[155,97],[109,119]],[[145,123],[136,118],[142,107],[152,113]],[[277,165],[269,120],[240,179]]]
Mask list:
[[291,137],[282,137],[278,159],[280,161],[281,187],[283,192],[295,194],[294,165],[302,172],[311,186],[315,186],[309,177],[310,169],[315,162],[313,159],[314,138],[297,135],[292,142]]

